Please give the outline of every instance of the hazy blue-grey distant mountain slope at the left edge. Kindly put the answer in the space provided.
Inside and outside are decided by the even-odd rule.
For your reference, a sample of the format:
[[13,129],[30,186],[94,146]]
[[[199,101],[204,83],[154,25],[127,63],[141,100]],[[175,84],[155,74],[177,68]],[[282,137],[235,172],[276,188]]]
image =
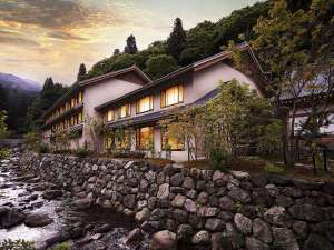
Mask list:
[[41,84],[29,80],[22,79],[11,73],[1,73],[0,72],[0,84],[3,89],[7,90],[21,90],[27,92],[40,92]]

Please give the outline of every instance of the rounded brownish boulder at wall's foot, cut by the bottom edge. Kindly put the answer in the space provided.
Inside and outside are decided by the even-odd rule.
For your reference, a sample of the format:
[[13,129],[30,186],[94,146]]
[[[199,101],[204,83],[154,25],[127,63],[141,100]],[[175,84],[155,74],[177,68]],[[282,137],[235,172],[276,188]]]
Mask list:
[[149,244],[150,250],[176,250],[176,234],[168,230],[156,232]]

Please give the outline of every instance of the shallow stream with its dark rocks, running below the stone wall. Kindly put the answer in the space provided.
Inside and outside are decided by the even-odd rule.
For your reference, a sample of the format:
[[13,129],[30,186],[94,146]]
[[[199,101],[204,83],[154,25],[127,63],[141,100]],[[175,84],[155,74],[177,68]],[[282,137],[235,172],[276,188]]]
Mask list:
[[[68,190],[22,171],[20,157],[16,150],[0,162],[0,242],[23,239],[36,249],[63,241],[71,249],[135,249],[125,242],[136,227],[131,218],[98,206],[76,208]],[[147,249],[146,242],[136,249]]]

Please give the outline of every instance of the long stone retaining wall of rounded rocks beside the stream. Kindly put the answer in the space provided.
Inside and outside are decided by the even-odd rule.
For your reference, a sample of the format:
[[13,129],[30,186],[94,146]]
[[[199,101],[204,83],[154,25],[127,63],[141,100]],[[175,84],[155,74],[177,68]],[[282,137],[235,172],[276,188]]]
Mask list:
[[[213,249],[334,249],[334,186],[127,160],[24,154],[24,170],[135,217],[143,231]],[[199,248],[205,249],[205,247]]]

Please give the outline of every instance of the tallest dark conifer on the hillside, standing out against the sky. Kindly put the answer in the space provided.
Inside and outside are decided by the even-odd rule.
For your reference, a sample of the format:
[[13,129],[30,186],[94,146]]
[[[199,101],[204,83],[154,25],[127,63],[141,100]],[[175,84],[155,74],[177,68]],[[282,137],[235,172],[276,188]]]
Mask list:
[[179,56],[186,46],[186,31],[183,28],[183,21],[180,18],[176,18],[174,21],[174,28],[169,38],[167,39],[167,50],[177,61]]

